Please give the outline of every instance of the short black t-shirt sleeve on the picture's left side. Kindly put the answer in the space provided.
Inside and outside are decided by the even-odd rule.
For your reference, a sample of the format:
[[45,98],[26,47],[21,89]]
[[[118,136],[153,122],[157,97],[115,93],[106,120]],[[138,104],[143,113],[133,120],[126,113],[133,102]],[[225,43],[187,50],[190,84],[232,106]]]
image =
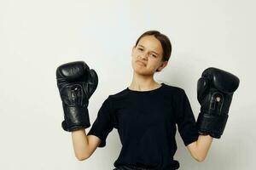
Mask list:
[[104,147],[106,145],[108,133],[113,130],[112,117],[112,105],[108,96],[108,99],[104,100],[98,111],[96,121],[93,122],[89,133],[87,133],[87,135],[95,135],[101,139],[101,144],[98,147]]

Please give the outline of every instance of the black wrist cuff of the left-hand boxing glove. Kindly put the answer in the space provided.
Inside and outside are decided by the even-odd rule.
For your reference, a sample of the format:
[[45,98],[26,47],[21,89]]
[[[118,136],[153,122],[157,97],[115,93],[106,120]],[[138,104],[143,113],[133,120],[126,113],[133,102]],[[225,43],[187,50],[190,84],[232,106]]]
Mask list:
[[61,123],[61,127],[72,132],[80,128],[90,127],[90,117],[87,107],[64,106],[65,121]]

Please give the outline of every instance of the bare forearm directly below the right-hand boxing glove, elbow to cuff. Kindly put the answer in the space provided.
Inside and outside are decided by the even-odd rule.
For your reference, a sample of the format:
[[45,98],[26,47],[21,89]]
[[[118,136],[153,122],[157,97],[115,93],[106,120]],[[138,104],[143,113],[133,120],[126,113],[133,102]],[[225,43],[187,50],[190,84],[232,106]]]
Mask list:
[[212,137],[210,135],[199,135],[196,141],[196,156],[200,161],[203,161],[207,157],[211,144]]

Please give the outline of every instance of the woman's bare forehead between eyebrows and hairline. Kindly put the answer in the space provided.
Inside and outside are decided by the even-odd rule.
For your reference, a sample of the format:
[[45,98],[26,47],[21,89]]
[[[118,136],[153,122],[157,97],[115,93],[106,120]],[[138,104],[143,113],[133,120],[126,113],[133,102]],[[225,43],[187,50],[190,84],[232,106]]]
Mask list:
[[142,45],[143,47],[154,50],[157,53],[162,52],[161,42],[154,36],[142,37],[137,45]]

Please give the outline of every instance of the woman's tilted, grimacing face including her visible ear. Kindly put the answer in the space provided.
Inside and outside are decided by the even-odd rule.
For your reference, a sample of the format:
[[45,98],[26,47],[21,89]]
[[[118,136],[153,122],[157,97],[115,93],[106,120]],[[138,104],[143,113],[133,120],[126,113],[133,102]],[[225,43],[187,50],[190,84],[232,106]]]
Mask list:
[[134,71],[141,75],[153,75],[158,69],[162,70],[167,61],[162,61],[163,48],[154,36],[145,36],[132,48],[131,65]]

